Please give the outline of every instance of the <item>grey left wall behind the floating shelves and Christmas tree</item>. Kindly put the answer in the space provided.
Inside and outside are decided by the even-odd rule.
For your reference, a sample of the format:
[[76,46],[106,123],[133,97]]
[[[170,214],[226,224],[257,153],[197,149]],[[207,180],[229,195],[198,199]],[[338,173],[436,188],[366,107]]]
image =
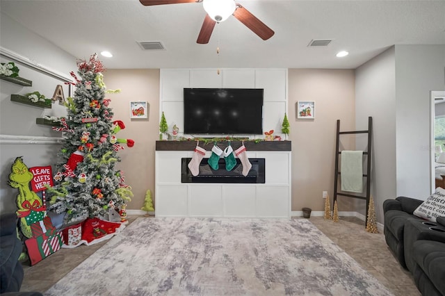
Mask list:
[[[3,49],[13,51],[33,63],[43,65],[54,72],[70,77],[70,71],[76,69],[76,58],[54,44],[42,39],[39,35],[29,31],[10,17],[1,14],[0,17],[0,45]],[[1,63],[12,60],[0,57]],[[19,104],[10,101],[10,94],[26,94],[39,91],[46,97],[52,97],[56,85],[61,84],[67,97],[67,86],[53,77],[35,71],[16,63],[19,67],[19,76],[33,81],[32,87],[22,87],[7,81],[0,81],[0,134],[20,135],[31,137],[46,137],[51,142],[52,138],[60,138],[60,134],[51,130],[51,126],[35,124],[35,119],[49,116],[63,116],[66,109],[52,104],[51,109],[42,109],[34,106]],[[8,175],[11,166],[17,156],[23,156],[24,163],[28,167],[53,165],[54,158],[61,145],[54,140],[52,144],[35,144],[36,141],[11,142],[6,144],[0,140],[0,213],[12,213],[17,211],[15,202],[18,191],[8,185]],[[38,142],[38,141],[37,141]]]

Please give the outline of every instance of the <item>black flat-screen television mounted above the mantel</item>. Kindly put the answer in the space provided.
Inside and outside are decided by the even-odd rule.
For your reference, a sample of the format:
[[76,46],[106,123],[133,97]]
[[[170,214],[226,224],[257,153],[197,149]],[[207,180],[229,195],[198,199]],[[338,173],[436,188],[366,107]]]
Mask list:
[[262,88],[184,88],[184,133],[262,134]]

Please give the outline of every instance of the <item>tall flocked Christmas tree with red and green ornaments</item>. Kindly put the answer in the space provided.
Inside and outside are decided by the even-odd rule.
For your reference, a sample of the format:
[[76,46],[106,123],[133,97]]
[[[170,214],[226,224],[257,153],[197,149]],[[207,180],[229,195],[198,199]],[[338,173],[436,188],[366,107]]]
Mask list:
[[[115,170],[120,161],[122,144],[132,147],[131,139],[119,139],[116,133],[125,128],[113,120],[113,112],[105,98],[104,67],[92,55],[90,60],[77,62],[79,78],[71,72],[76,83],[73,97],[67,98],[67,117],[62,127],[65,140],[58,153],[55,185],[47,190],[49,211],[67,213],[67,222],[86,217],[106,217],[108,208],[125,206],[133,196],[124,183],[124,176]],[[113,92],[113,91],[111,91]]]

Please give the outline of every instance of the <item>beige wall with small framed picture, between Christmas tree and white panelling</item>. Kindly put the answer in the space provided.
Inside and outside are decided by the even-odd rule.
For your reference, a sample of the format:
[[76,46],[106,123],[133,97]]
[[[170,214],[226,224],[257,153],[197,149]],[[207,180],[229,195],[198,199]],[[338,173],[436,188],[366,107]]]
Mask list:
[[[104,83],[110,90],[120,89],[117,94],[107,94],[111,99],[113,120],[122,120],[125,129],[118,138],[131,138],[133,147],[119,151],[122,161],[116,165],[122,170],[125,183],[131,186],[134,197],[127,209],[140,210],[144,204],[145,192],[154,191],[154,153],[156,140],[159,140],[159,69],[108,69],[104,72]],[[148,119],[130,119],[130,101],[147,101]]]

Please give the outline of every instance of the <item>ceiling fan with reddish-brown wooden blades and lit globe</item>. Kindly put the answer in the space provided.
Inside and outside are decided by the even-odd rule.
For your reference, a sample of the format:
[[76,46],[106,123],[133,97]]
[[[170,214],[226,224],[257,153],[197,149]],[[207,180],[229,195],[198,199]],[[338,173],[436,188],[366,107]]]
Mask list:
[[261,22],[257,17],[252,15],[247,9],[234,0],[139,0],[144,6],[155,6],[163,4],[178,3],[200,3],[202,2],[207,15],[202,23],[200,34],[197,36],[196,42],[199,44],[209,43],[211,33],[215,24],[223,22],[227,17],[233,15],[238,21],[250,28],[253,33],[257,34],[262,40],[268,40],[275,33]]

